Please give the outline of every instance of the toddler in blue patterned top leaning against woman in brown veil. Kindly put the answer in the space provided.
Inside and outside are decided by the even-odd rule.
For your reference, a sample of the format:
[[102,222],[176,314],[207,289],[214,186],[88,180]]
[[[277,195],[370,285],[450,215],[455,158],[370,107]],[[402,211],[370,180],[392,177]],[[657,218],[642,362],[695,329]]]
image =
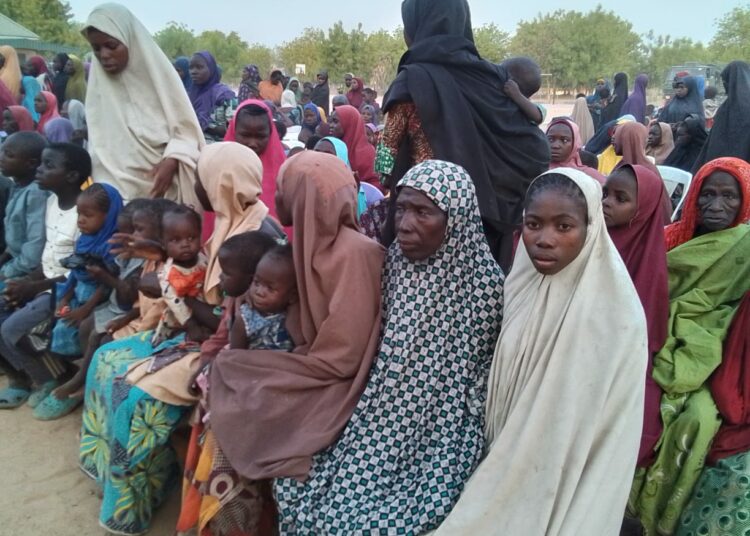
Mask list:
[[276,246],[258,263],[253,282],[232,326],[230,348],[286,350],[294,348],[286,330],[286,312],[297,301],[292,246]]

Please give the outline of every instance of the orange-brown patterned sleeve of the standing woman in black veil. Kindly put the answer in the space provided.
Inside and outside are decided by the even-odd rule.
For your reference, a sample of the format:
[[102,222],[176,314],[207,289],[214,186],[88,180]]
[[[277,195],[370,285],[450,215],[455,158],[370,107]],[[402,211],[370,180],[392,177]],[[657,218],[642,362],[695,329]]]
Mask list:
[[385,130],[375,158],[375,171],[381,175],[393,173],[401,144],[409,137],[409,152],[414,164],[432,158],[432,148],[422,130],[422,121],[413,102],[394,105],[388,112]]

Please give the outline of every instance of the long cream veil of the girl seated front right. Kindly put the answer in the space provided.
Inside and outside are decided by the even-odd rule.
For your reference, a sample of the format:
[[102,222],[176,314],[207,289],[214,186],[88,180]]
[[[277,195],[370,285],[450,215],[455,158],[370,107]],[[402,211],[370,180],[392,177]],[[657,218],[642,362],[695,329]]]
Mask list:
[[601,186],[569,168],[551,173],[584,192],[586,242],[553,276],[519,244],[490,371],[490,448],[438,535],[619,534],[641,437],[646,319],[607,233]]

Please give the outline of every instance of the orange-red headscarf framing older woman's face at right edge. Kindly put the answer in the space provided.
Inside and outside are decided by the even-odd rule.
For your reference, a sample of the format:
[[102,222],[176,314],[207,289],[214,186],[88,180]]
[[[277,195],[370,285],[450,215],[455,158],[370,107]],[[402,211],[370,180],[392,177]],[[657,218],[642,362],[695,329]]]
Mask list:
[[703,182],[715,171],[724,171],[737,179],[742,192],[742,206],[737,212],[737,218],[732,223],[736,227],[740,223],[750,221],[750,164],[739,158],[717,158],[711,160],[698,170],[690,184],[685,203],[682,209],[682,219],[673,223],[665,229],[667,239],[667,250],[676,248],[691,240],[695,235],[695,229],[700,223],[698,213],[698,196],[701,192]]

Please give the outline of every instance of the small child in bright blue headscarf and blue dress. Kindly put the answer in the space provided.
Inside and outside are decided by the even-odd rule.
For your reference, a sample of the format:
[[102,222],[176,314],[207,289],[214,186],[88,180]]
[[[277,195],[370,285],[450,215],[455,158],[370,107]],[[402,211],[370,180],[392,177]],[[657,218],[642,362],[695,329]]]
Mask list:
[[109,239],[117,230],[122,197],[113,186],[96,183],[81,192],[76,206],[81,236],[76,241],[75,253],[61,261],[70,274],[57,287],[55,314],[59,319],[50,344],[53,354],[74,358],[83,353],[78,328],[93,315],[110,290],[94,274],[118,271]]

